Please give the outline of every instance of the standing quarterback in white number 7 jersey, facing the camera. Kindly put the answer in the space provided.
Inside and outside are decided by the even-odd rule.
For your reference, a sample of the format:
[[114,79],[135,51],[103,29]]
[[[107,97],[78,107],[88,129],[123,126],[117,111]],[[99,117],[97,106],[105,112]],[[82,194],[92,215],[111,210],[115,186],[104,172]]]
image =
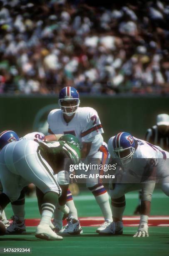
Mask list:
[[[60,91],[58,103],[60,109],[54,109],[48,115],[48,133],[75,135],[80,140],[81,158],[85,159],[86,163],[98,164],[98,159],[100,159],[99,164],[106,164],[109,154],[107,144],[103,141],[102,133],[104,131],[97,111],[89,107],[80,108],[79,93],[70,86],[64,87]],[[102,171],[98,170],[98,172]],[[105,219],[102,226],[97,229],[99,232],[112,222],[109,196],[99,179],[88,179],[86,185],[93,193]],[[62,233],[73,232],[76,223],[79,225],[73,200],[68,201],[67,205],[70,208],[70,223],[68,222]]]

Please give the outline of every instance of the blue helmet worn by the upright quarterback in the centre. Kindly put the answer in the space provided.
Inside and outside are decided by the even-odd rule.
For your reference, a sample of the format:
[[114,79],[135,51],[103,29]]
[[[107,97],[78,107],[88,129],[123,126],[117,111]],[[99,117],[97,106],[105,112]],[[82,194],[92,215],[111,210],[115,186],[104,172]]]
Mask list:
[[80,104],[79,92],[74,87],[64,87],[60,91],[58,104],[64,114],[68,116],[73,115]]

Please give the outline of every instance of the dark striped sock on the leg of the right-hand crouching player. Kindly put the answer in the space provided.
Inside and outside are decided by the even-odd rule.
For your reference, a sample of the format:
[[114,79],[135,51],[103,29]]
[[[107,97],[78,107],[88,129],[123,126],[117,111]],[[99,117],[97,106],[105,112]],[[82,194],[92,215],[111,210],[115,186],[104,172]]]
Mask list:
[[126,206],[125,195],[116,199],[112,198],[113,218],[117,218],[120,221],[122,221],[125,206]]

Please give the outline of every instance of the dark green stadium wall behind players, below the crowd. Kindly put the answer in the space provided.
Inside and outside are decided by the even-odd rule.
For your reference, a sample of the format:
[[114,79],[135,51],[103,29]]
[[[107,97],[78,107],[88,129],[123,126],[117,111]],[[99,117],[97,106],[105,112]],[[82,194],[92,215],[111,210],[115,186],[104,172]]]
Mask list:
[[[99,113],[104,140],[120,131],[144,138],[147,128],[156,123],[156,115],[169,114],[169,97],[80,97],[81,107],[92,107]],[[57,97],[0,97],[0,131],[14,130],[19,136],[47,129],[47,114],[58,108]]]

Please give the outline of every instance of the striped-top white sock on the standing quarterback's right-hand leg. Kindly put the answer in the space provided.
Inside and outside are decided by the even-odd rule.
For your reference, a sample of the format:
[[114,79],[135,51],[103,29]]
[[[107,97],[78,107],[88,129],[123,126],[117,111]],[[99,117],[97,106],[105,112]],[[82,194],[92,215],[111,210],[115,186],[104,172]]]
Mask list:
[[109,195],[102,184],[97,184],[94,187],[89,187],[89,190],[93,193],[96,202],[98,203],[104,219],[112,221],[112,210],[109,203]]

